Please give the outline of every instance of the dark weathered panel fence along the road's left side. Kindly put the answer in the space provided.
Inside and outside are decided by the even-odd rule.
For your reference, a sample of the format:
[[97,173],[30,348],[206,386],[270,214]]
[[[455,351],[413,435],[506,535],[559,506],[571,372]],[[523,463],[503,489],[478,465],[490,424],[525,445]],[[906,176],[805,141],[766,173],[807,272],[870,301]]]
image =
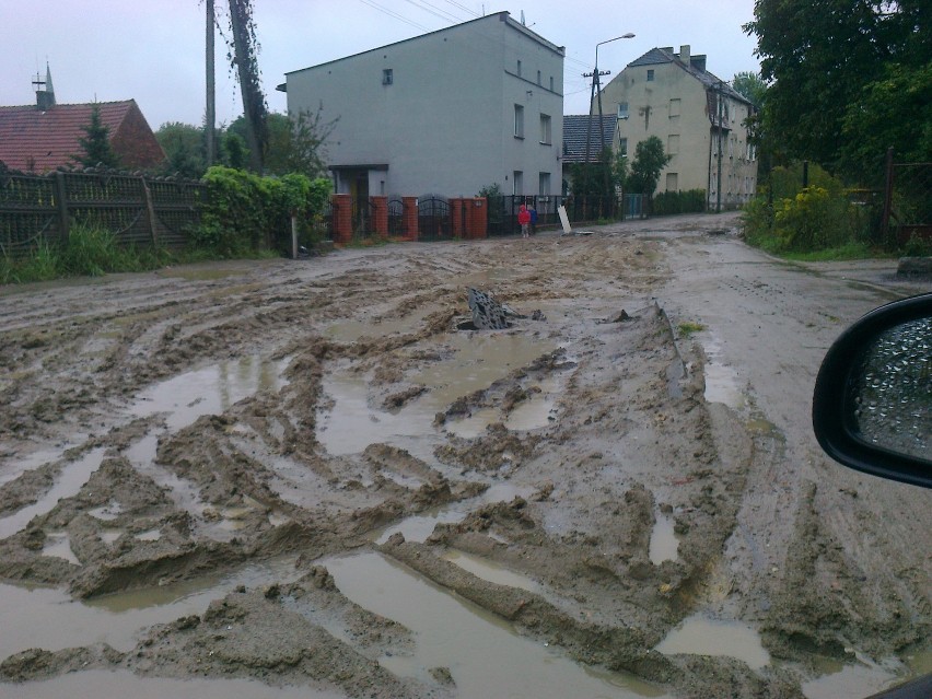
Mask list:
[[206,186],[113,172],[26,175],[0,170],[0,255],[68,238],[74,225],[110,231],[124,245],[182,246],[200,222]]

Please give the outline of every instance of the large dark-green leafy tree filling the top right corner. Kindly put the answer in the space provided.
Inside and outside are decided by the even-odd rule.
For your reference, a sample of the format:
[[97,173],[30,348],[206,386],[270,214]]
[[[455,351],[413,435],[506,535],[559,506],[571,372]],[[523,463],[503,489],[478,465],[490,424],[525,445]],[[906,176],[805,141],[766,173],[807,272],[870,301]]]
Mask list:
[[[770,136],[789,156],[827,166],[841,164],[850,150],[852,131],[843,125],[864,91],[887,80],[892,65],[918,70],[932,55],[928,0],[757,0],[754,18],[744,30],[757,35],[760,74],[770,83],[764,105]],[[879,124],[874,135],[890,140],[895,127],[896,120]]]

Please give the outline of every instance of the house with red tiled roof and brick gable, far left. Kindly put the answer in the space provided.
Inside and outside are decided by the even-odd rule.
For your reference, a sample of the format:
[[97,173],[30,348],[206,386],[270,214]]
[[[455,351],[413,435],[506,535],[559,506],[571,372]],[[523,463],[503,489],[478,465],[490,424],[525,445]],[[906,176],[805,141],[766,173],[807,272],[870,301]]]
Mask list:
[[155,139],[135,100],[88,104],[56,104],[51,74],[36,80],[36,104],[0,106],[0,162],[10,170],[43,174],[58,167],[74,167],[83,153],[94,107],[107,128],[110,148],[126,170],[156,167],[165,161],[165,151]]

